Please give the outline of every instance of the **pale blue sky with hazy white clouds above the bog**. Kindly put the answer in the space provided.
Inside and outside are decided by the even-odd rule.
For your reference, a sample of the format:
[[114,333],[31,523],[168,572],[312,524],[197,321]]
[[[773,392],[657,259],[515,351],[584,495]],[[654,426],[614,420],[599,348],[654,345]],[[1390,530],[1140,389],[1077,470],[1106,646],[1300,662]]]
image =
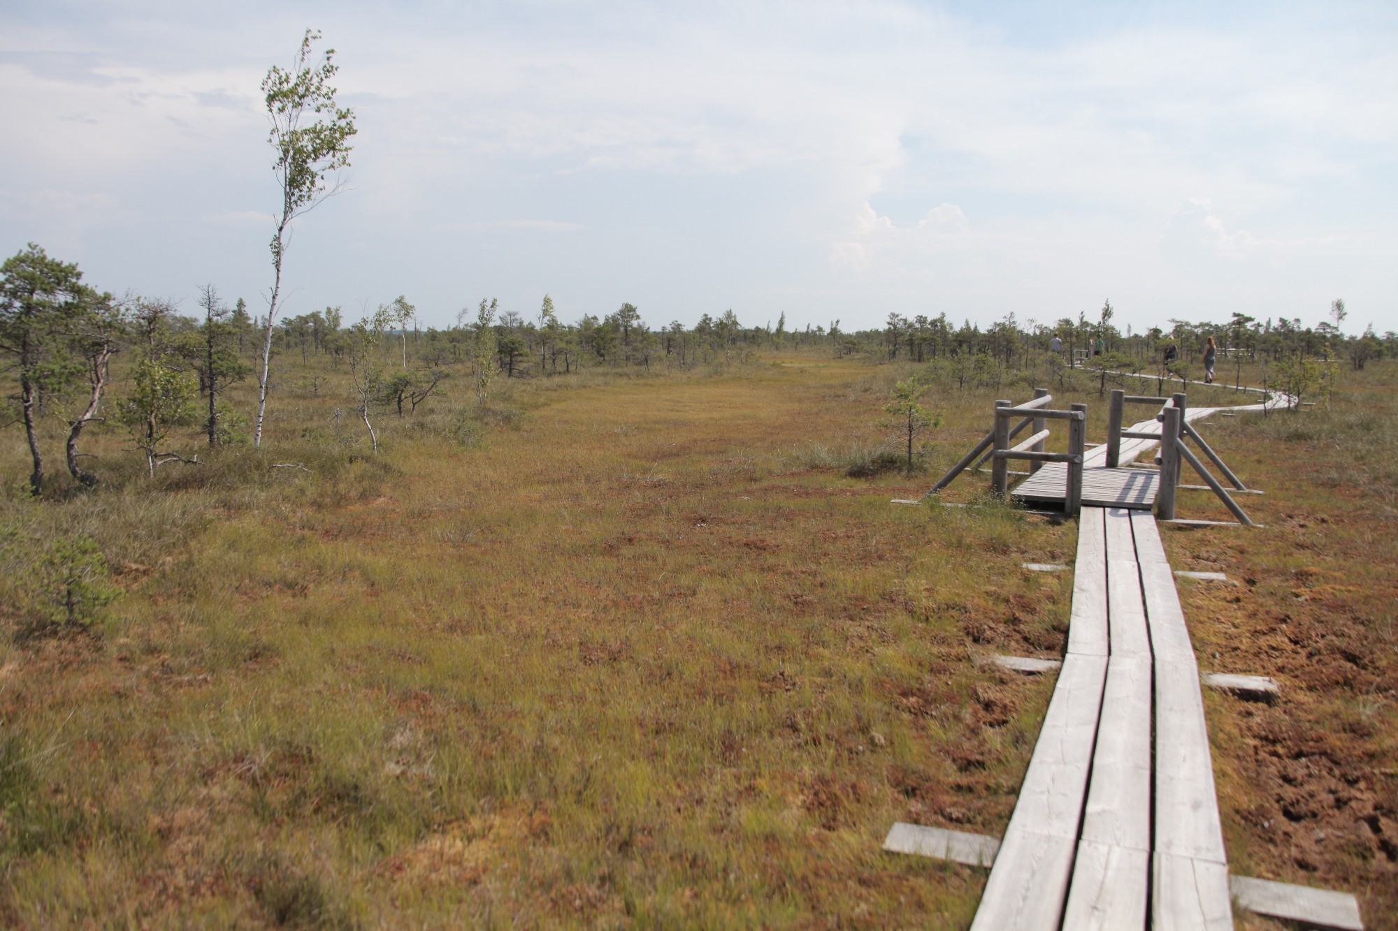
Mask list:
[[266,312],[308,27],[359,131],[285,315],[1398,329],[1398,4],[1342,0],[7,0],[0,252]]

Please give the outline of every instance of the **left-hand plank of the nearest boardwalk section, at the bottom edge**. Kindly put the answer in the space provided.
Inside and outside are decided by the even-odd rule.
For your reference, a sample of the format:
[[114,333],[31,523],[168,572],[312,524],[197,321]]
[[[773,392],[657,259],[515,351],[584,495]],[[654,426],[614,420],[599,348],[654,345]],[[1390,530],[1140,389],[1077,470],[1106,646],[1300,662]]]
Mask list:
[[1075,847],[1068,837],[1007,832],[972,931],[1058,931]]

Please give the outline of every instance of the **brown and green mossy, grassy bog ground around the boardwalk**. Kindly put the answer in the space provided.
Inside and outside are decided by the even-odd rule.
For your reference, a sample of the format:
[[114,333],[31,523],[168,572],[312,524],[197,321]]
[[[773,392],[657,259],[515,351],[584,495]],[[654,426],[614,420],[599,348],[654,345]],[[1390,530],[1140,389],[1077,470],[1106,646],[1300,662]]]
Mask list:
[[[891,507],[935,474],[853,466],[910,370],[541,380],[470,422],[463,387],[384,415],[377,457],[317,386],[274,398],[266,456],[10,495],[11,542],[87,533],[123,594],[25,635],[6,583],[0,920],[965,927],[983,871],[879,843],[1004,829],[1053,681],[987,660],[1061,653],[1071,575],[1019,566],[1071,562],[1075,526]],[[1381,928],[1398,404],[1392,366],[1359,375],[1329,411],[1206,421],[1265,528],[1166,547],[1239,580],[1181,584],[1201,667],[1282,682],[1206,696],[1236,871]],[[934,391],[930,472],[995,394]]]

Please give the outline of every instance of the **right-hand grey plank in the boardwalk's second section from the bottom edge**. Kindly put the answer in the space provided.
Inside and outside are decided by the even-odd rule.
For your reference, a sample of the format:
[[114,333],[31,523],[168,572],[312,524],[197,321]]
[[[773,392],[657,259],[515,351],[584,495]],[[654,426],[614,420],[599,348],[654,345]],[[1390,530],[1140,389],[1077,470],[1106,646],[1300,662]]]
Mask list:
[[1192,657],[1155,664],[1155,850],[1227,864]]

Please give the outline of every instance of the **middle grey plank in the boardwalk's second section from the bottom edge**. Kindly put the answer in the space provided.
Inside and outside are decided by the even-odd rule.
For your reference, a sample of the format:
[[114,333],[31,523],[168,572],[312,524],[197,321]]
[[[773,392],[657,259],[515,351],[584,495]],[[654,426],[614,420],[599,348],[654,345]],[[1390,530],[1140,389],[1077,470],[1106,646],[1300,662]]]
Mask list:
[[[1116,649],[1116,644],[1113,644]],[[1151,657],[1107,663],[1082,840],[1151,850]],[[1142,860],[1141,882],[1145,882]]]

